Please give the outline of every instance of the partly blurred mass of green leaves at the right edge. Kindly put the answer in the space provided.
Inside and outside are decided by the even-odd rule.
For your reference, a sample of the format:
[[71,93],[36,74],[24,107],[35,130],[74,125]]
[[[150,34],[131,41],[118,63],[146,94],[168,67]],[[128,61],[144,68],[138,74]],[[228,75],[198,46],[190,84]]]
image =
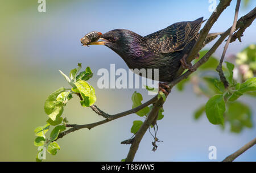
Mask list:
[[[208,50],[200,52],[202,58]],[[195,62],[199,61],[195,60]],[[182,91],[184,85],[191,82],[193,90],[197,95],[204,95],[209,98],[205,106],[200,106],[194,112],[195,119],[199,119],[205,112],[208,120],[212,124],[220,124],[224,128],[225,123],[230,124],[230,131],[240,133],[243,128],[251,128],[251,108],[246,104],[237,101],[242,95],[255,96],[256,78],[256,46],[255,44],[243,49],[236,56],[236,65],[225,62],[223,66],[225,78],[229,87],[225,88],[215,71],[218,60],[211,56],[209,61],[199,67],[195,73],[177,84],[176,88]],[[247,66],[247,70],[238,70],[237,79],[234,79],[233,70]],[[240,79],[239,76],[242,78]],[[241,81],[242,83],[239,83]]]

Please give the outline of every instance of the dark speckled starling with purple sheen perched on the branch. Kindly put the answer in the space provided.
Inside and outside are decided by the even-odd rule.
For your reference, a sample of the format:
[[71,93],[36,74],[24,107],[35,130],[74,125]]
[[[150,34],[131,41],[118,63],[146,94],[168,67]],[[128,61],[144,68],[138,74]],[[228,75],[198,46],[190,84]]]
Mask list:
[[[81,39],[81,43],[105,45],[121,56],[130,69],[159,69],[158,81],[170,82],[180,65],[193,70],[191,64],[185,62],[185,57],[195,45],[203,22],[203,18],[199,18],[174,23],[144,37],[127,29],[114,29],[100,35],[101,41],[91,41],[87,44]],[[204,45],[221,33],[209,33]],[[150,76],[154,79],[154,70],[152,73]]]

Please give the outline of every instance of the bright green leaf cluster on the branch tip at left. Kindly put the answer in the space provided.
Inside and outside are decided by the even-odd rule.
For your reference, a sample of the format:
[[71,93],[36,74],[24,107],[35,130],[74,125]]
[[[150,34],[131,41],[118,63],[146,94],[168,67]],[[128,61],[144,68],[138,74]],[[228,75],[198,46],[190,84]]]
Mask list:
[[[92,70],[90,70],[90,67],[86,67],[84,71],[79,73],[81,68],[81,64],[78,64],[76,69],[70,71],[69,77],[59,70],[72,88],[61,87],[57,89],[48,96],[44,103],[44,112],[49,118],[46,121],[46,125],[39,126],[34,130],[36,136],[34,145],[38,147],[36,161],[45,159],[46,151],[49,154],[56,155],[57,150],[60,150],[60,146],[55,140],[66,129],[68,120],[67,118],[63,119],[61,115],[63,114],[64,106],[73,98],[73,94],[81,96],[80,103],[82,107],[89,107],[96,102],[95,90],[86,82],[93,77]],[[53,129],[49,137],[46,137],[46,133],[51,126]]]

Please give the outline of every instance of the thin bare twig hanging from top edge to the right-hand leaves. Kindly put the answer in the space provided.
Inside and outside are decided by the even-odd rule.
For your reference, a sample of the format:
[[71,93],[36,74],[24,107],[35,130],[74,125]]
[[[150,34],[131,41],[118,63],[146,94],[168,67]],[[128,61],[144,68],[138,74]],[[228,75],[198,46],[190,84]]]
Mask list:
[[225,75],[223,73],[222,63],[224,61],[224,57],[225,57],[225,54],[226,54],[226,50],[228,49],[230,40],[232,39],[233,33],[236,30],[240,2],[241,2],[241,0],[237,0],[237,5],[236,5],[236,10],[235,10],[233,25],[232,25],[232,28],[230,29],[228,40],[226,41],[226,44],[224,46],[224,50],[223,50],[222,55],[221,55],[220,63],[218,64],[218,66],[216,68],[216,71],[218,71],[218,75],[220,76],[220,80],[221,80],[221,82],[223,82],[225,88],[227,88],[229,86],[229,83],[226,80]]

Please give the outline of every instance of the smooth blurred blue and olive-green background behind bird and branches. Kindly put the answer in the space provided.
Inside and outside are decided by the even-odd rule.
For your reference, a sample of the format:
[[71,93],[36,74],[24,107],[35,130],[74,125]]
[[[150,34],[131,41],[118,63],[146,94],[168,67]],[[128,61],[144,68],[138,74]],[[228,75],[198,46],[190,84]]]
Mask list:
[[[131,108],[131,95],[135,89],[97,88],[97,70],[110,68],[128,69],[117,54],[104,46],[81,47],[80,38],[90,31],[108,32],[116,28],[130,29],[142,36],[170,26],[172,23],[195,20],[201,16],[208,19],[208,0],[201,1],[46,1],[47,12],[37,11],[38,3],[1,1],[1,72],[3,81],[1,101],[3,119],[0,135],[0,160],[34,161],[36,147],[33,147],[36,126],[47,120],[43,111],[44,100],[49,93],[61,86],[68,87],[58,70],[65,73],[81,62],[90,66],[94,78],[90,81],[96,88],[96,105],[114,114]],[[23,6],[22,3],[28,5]],[[218,1],[217,1],[218,3]],[[238,18],[253,9],[256,1],[251,1],[245,9],[241,7]],[[210,32],[228,29],[234,18],[236,1],[223,12]],[[256,23],[247,28],[242,43],[229,45],[227,56],[240,52],[247,45],[255,43]],[[213,43],[209,44],[209,48]],[[224,45],[216,51],[220,57]],[[142,93],[144,100],[152,96]],[[16,100],[14,102],[14,99]],[[164,104],[164,119],[158,123],[158,150],[152,149],[152,137],[146,133],[135,161],[210,161],[208,147],[217,147],[217,160],[221,161],[255,137],[255,99],[241,98],[253,108],[252,129],[244,129],[240,134],[229,132],[210,124],[204,115],[193,119],[193,111],[207,98],[193,94],[191,85],[184,92],[172,91]],[[74,112],[74,110],[76,110]],[[82,108],[79,99],[74,98],[65,108],[64,115],[70,123],[86,124],[102,120],[90,109]],[[48,161],[121,161],[130,146],[120,142],[130,138],[130,128],[134,120],[143,120],[137,115],[129,115],[93,128],[68,134],[58,143],[61,150],[56,156],[47,155]],[[10,128],[10,125],[13,128]],[[8,132],[5,129],[10,128]],[[256,147],[241,155],[236,161],[256,161]]]

